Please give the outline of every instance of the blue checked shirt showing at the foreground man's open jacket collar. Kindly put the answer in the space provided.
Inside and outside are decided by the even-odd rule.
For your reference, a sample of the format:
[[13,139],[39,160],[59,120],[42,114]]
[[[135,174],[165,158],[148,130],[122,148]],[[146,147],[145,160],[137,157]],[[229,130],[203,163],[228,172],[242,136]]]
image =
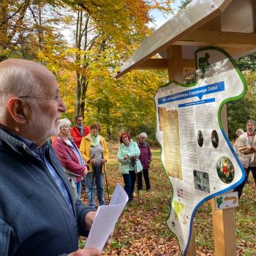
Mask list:
[[10,135],[12,135],[13,137],[17,138],[18,140],[22,141],[23,143],[26,144],[26,146],[28,146],[30,148],[30,150],[32,151],[32,154],[34,154],[34,157],[37,157],[37,159],[41,160],[42,162],[45,163],[46,167],[48,168],[51,176],[53,176],[54,181],[56,182],[56,184],[58,185],[58,187],[61,189],[61,193],[64,196],[67,205],[69,206],[70,210],[73,213],[73,207],[72,207],[72,203],[71,200],[69,198],[69,194],[67,192],[67,189],[64,185],[64,183],[61,181],[61,178],[59,177],[58,173],[56,173],[56,170],[54,169],[53,165],[50,164],[50,162],[48,161],[47,157],[45,157],[45,152],[47,151],[47,149],[50,146],[50,141],[48,140],[44,146],[42,146],[42,148],[39,148],[36,144],[34,144],[31,140],[28,140],[26,138],[20,137],[18,135],[16,135],[13,132],[7,131],[10,133]]

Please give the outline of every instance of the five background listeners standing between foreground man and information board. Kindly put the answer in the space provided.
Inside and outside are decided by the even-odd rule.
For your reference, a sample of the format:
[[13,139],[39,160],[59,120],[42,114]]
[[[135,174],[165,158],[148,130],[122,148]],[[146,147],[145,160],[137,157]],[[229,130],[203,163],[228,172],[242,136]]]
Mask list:
[[[105,204],[104,175],[108,162],[108,145],[101,135],[99,123],[88,127],[83,124],[83,116],[75,117],[75,125],[67,118],[59,121],[59,135],[53,138],[53,148],[64,167],[75,195],[80,199],[82,180],[84,179],[89,206],[95,208],[95,188],[99,206]],[[143,189],[143,178],[146,190],[151,190],[148,168],[151,162],[151,150],[146,143],[145,132],[138,135],[138,143],[132,141],[127,132],[121,133],[118,149],[120,173],[124,178],[124,189],[129,201],[133,199],[135,181],[138,177],[138,189]]]

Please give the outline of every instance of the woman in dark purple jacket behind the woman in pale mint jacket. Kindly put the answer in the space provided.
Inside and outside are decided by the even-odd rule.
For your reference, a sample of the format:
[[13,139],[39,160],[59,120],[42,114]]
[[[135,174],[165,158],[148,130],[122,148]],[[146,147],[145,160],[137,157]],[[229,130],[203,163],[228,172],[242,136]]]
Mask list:
[[146,132],[141,132],[140,135],[138,135],[138,139],[139,139],[138,146],[140,148],[140,162],[141,162],[141,165],[143,166],[142,172],[138,173],[138,187],[139,187],[139,190],[143,189],[143,183],[142,183],[142,174],[143,174],[145,184],[146,184],[146,189],[148,192],[150,192],[151,187],[150,187],[148,169],[151,163],[152,154],[148,146],[148,143],[146,142],[147,138],[148,138],[148,135],[146,135]]

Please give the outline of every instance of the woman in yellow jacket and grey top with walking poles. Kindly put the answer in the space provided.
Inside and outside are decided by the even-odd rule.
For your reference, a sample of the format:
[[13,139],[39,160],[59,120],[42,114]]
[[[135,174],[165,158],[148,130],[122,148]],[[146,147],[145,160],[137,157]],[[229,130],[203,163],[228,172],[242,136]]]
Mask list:
[[89,206],[95,208],[94,203],[94,179],[97,188],[97,198],[99,206],[105,204],[104,201],[104,173],[106,162],[108,161],[108,146],[105,139],[99,135],[100,124],[91,124],[91,132],[86,135],[80,143],[80,152],[83,159],[89,164],[89,172],[86,175],[86,194]]

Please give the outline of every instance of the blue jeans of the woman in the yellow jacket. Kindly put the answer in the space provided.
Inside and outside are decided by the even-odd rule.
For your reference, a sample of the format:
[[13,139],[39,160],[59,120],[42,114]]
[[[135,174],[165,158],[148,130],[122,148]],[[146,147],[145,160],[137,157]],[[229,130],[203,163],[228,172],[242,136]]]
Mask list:
[[104,202],[104,176],[102,173],[102,166],[94,166],[93,171],[90,173],[87,173],[87,175],[86,175],[86,194],[87,194],[88,204],[89,204],[89,206],[92,206],[95,208],[94,178],[95,178],[95,184],[96,184],[96,188],[97,188],[97,198],[99,201],[99,206],[105,205],[105,202]]

